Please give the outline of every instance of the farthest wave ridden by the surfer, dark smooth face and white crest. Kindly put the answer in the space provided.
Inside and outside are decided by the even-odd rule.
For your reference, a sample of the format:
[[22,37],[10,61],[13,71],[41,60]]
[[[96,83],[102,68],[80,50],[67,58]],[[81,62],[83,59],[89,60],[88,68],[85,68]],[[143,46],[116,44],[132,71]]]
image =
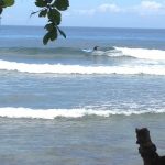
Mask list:
[[97,51],[92,48],[75,48],[75,47],[1,47],[0,54],[6,56],[21,56],[24,57],[62,57],[69,56],[108,56],[108,57],[134,57],[142,59],[165,61],[165,51],[163,50],[147,50],[147,48],[129,48],[129,47],[100,47]]

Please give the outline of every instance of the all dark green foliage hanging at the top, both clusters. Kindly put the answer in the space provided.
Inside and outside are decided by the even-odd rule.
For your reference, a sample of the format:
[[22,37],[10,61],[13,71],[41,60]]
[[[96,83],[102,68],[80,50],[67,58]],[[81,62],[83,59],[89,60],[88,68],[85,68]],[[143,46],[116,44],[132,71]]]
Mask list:
[[[0,0],[0,14],[3,8],[14,4],[14,0]],[[40,8],[38,11],[34,11],[31,15],[38,13],[40,18],[46,18],[47,24],[45,25],[46,34],[43,37],[43,44],[47,44],[50,41],[54,41],[58,37],[58,34],[66,38],[66,34],[59,29],[62,22],[62,11],[65,11],[69,7],[68,0],[35,0],[35,6]]]

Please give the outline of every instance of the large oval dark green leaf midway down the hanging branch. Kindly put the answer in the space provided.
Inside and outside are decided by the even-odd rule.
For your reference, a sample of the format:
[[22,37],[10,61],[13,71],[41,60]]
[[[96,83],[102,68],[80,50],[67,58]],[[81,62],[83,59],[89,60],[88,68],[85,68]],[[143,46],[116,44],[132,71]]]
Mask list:
[[48,19],[51,22],[55,23],[56,25],[61,24],[62,15],[61,12],[56,9],[51,9],[48,11]]

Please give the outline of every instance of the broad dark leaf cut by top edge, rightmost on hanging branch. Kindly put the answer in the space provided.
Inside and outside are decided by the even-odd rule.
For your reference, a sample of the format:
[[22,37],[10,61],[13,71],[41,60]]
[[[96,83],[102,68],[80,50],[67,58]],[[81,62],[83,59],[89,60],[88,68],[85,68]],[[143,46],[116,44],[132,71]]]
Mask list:
[[56,7],[61,11],[64,11],[64,10],[67,10],[67,8],[69,7],[69,1],[68,0],[55,0],[55,2],[52,6]]

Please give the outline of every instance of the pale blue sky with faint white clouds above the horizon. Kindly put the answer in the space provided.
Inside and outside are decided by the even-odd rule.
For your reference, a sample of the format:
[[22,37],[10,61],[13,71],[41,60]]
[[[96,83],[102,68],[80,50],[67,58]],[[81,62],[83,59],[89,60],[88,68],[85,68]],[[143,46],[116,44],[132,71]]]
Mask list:
[[[44,25],[45,19],[34,15],[35,0],[15,0],[4,10],[4,25]],[[63,26],[150,28],[165,29],[165,0],[69,0],[63,12]]]

